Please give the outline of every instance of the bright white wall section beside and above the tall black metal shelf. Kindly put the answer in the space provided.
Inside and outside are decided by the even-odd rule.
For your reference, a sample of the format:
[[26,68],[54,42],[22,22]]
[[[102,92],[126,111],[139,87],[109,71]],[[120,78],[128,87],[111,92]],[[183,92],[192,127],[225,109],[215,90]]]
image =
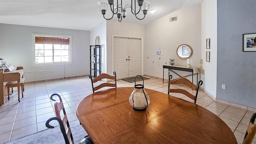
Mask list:
[[[95,45],[95,38],[99,36],[100,37],[100,45],[102,47],[101,51],[101,62],[102,62],[102,68],[101,72],[106,73],[107,72],[107,57],[106,57],[106,20],[98,24],[98,26],[94,27],[92,30],[90,30],[90,45]],[[90,52],[88,48],[88,52]]]

